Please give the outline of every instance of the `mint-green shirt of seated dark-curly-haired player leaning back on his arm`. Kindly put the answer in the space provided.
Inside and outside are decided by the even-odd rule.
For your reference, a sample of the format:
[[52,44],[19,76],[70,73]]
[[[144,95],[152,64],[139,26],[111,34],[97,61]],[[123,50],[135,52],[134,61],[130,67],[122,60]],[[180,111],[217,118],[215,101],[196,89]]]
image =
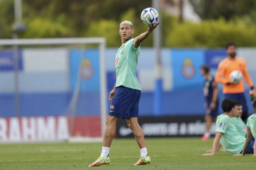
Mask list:
[[223,133],[220,143],[229,154],[241,153],[245,137],[236,130],[231,117],[225,114],[219,115],[216,121],[216,132]]

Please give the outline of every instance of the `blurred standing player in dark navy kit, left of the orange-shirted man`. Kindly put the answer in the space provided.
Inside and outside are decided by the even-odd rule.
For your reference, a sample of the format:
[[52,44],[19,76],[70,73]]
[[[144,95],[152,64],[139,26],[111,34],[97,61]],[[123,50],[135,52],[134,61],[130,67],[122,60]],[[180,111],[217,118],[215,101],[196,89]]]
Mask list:
[[200,71],[205,80],[203,94],[206,100],[206,131],[203,137],[201,138],[202,141],[205,141],[210,138],[211,134],[209,131],[212,122],[216,122],[216,117],[218,116],[218,88],[216,82],[214,81],[214,77],[210,74],[210,68],[208,65],[201,66]]

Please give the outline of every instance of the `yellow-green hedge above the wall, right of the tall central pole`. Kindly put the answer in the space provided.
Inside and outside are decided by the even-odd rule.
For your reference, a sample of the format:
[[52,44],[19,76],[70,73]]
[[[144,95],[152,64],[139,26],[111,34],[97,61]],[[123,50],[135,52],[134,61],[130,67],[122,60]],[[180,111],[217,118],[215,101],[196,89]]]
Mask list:
[[176,25],[168,35],[168,47],[224,47],[227,42],[237,46],[256,46],[256,28],[243,21],[205,20],[201,24],[186,22]]

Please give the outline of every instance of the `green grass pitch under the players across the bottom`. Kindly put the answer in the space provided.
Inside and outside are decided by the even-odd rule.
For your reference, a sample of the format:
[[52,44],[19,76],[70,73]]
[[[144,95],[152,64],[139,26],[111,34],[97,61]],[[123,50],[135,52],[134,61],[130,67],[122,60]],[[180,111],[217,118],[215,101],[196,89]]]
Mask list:
[[83,170],[83,169],[256,169],[256,157],[233,157],[226,152],[202,157],[211,149],[213,139],[200,138],[146,139],[150,165],[133,166],[140,157],[135,139],[115,139],[110,148],[110,165],[88,167],[101,152],[101,143],[37,143],[0,145],[0,170]]

